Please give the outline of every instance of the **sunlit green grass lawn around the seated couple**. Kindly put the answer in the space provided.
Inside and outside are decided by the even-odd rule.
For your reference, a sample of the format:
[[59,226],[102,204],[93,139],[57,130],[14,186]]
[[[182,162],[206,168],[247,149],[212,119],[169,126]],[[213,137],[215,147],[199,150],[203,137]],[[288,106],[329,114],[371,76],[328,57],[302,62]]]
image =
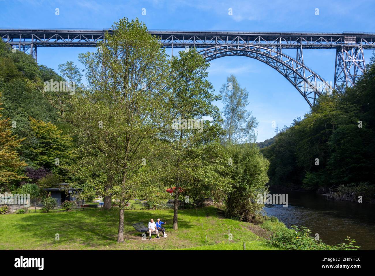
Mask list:
[[[199,214],[199,218],[198,218]],[[132,224],[160,218],[167,238],[142,240]],[[225,219],[215,207],[178,211],[178,230],[172,229],[173,210],[126,210],[125,243],[117,243],[118,209],[0,215],[0,249],[119,249],[119,250],[275,250],[250,229],[251,223]],[[202,225],[203,223],[203,225]],[[265,231],[265,230],[263,230]],[[228,233],[233,241],[228,241]],[[56,234],[60,240],[56,241]],[[207,235],[207,241],[206,241]]]

